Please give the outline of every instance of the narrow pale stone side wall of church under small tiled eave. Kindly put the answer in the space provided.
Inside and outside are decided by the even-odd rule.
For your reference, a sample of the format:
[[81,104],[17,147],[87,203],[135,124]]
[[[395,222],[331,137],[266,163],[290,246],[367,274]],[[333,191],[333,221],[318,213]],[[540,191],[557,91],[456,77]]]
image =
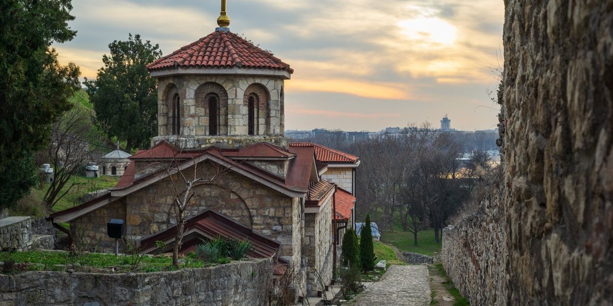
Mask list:
[[315,269],[323,285],[330,285],[332,280],[332,198],[321,206],[316,213],[305,214],[305,255],[307,258],[307,292],[310,295],[325,291],[319,282]]

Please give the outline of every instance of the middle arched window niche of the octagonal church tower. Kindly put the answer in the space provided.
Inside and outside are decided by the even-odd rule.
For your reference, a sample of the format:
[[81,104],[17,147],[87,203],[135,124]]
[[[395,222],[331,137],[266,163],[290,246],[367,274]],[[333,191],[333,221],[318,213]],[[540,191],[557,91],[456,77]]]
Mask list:
[[[216,110],[209,109],[211,98],[217,101]],[[198,86],[194,99],[196,100],[196,116],[198,119],[196,135],[210,135],[209,127],[211,125],[216,125],[216,135],[228,135],[228,94],[226,89],[218,83],[207,82]],[[210,118],[215,118],[217,122],[209,122]]]

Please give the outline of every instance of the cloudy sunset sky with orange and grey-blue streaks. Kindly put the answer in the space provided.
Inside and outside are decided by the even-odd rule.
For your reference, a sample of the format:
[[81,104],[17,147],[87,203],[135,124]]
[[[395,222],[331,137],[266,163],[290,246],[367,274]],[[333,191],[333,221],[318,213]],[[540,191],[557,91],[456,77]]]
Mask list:
[[[502,0],[227,0],[230,31],[294,68],[286,129],[381,130],[448,114],[455,129],[493,129],[488,91],[502,65]],[[213,32],[219,0],[73,0],[61,61],[95,78],[128,33],[164,54]]]

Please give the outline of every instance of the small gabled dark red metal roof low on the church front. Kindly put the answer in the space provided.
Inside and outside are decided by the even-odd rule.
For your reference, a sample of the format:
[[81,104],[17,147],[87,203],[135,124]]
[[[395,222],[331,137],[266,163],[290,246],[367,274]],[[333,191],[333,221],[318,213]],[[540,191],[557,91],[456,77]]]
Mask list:
[[[189,241],[202,244],[202,241],[197,236],[204,236],[207,239],[215,239],[221,236],[225,239],[249,241],[253,245],[251,252],[248,253],[249,258],[272,258],[280,246],[278,242],[211,210],[201,212],[195,217],[190,218],[185,223],[185,233],[188,233],[188,235],[194,233],[195,235],[188,237],[185,241],[188,243],[183,243],[183,248],[189,248],[193,245]],[[166,231],[143,239],[140,241],[140,245],[143,250],[147,250],[148,248],[155,247],[156,241],[170,241],[172,243],[176,235],[177,226],[173,226]],[[166,252],[167,250],[163,251]]]

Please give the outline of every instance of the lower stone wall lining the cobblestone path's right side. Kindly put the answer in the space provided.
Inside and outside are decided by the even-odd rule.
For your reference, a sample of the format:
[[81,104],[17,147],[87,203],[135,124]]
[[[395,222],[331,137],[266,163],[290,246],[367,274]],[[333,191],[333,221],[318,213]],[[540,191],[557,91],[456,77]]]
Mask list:
[[443,230],[442,262],[471,305],[506,305],[506,234],[499,196]]

